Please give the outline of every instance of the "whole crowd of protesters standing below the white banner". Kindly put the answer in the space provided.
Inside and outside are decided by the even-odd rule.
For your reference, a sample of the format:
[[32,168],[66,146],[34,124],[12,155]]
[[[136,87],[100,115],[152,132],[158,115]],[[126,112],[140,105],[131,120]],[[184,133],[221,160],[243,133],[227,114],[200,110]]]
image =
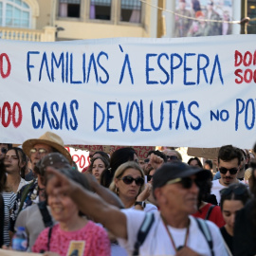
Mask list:
[[0,246],[23,227],[27,252],[45,256],[255,255],[255,152],[224,145],[185,163],[125,147],[90,153],[81,173],[54,133],[0,144]]

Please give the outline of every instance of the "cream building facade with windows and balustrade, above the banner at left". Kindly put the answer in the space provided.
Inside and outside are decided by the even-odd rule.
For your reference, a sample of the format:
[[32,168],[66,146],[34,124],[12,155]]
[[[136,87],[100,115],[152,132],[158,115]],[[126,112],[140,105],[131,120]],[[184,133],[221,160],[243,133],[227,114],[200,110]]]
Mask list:
[[156,10],[139,0],[0,0],[1,38],[7,39],[155,37],[155,21]]

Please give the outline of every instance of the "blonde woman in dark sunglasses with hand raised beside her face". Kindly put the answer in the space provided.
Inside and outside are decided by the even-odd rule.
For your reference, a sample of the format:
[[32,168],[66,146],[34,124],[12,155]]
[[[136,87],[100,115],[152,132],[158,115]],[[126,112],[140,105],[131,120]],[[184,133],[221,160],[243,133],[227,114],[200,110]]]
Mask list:
[[152,186],[144,183],[142,169],[135,161],[130,161],[119,166],[109,189],[119,195],[125,208],[155,211],[157,208],[154,205],[145,203]]

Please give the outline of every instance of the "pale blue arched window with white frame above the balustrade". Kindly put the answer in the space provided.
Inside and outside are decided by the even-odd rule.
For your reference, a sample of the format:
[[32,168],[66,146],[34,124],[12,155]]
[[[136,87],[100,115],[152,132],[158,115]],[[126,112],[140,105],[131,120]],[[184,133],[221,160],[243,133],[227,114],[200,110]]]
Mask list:
[[0,1],[0,26],[30,27],[30,8],[22,0]]

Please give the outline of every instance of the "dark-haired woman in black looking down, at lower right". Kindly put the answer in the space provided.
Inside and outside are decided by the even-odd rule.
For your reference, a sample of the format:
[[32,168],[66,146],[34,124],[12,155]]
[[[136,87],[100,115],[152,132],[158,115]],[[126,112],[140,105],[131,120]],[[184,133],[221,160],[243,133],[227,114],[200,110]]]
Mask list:
[[228,188],[221,190],[220,193],[220,207],[226,222],[226,225],[220,230],[230,252],[233,254],[235,215],[238,210],[245,207],[250,195],[247,186],[242,183],[231,184]]

